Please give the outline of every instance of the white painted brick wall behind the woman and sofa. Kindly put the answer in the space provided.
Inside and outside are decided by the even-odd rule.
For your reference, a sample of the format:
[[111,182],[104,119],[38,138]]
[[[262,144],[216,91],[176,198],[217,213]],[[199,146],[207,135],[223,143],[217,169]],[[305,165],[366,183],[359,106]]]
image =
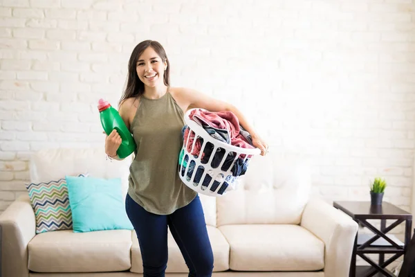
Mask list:
[[271,151],[304,152],[314,193],[409,210],[414,184],[415,3],[3,0],[0,211],[42,148],[102,145],[96,102],[116,105],[133,47],[158,40],[172,85],[237,105]]

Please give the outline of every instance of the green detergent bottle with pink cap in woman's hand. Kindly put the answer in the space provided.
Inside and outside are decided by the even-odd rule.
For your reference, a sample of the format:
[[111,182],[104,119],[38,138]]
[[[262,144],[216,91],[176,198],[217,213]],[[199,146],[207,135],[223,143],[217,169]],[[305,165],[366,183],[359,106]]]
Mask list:
[[116,129],[121,136],[122,142],[117,150],[118,157],[120,159],[128,157],[136,150],[137,145],[120,114],[104,99],[98,101],[98,110],[100,111],[100,119],[104,132],[109,135],[113,129]]

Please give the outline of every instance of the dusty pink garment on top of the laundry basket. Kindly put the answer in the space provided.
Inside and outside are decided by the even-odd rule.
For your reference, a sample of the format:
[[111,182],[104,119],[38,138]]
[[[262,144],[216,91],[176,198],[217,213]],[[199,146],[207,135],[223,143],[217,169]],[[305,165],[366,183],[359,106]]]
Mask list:
[[[246,141],[246,139],[239,133],[239,120],[232,111],[203,111],[201,109],[194,109],[190,112],[190,119],[196,121],[200,125],[209,125],[218,129],[228,129],[230,134],[230,144],[240,148],[254,147]],[[199,141],[199,140],[197,140]],[[197,143],[196,141],[196,143]],[[192,146],[192,145],[190,145]],[[199,148],[200,151],[200,148]],[[243,155],[245,156],[245,155]]]

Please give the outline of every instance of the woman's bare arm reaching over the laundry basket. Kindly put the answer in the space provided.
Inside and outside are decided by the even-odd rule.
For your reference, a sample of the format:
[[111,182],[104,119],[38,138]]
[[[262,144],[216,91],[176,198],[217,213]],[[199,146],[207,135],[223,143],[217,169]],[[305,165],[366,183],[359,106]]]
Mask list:
[[257,132],[255,132],[253,127],[248,123],[248,120],[246,120],[246,117],[243,116],[237,107],[229,104],[228,102],[207,96],[194,89],[181,88],[178,89],[178,91],[180,94],[178,97],[181,98],[187,109],[202,108],[207,109],[208,111],[232,111],[232,113],[234,113],[234,115],[239,119],[239,123],[243,129],[246,129],[246,131],[250,133],[252,137],[252,145],[261,150],[262,156],[266,154],[268,151],[268,144],[261,139]]

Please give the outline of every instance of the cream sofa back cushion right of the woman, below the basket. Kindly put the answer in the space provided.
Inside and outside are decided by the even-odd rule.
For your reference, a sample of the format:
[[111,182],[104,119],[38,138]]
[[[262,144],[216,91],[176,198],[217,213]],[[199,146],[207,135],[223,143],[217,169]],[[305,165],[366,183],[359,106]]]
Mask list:
[[307,164],[299,154],[253,157],[237,190],[217,198],[217,225],[299,224],[311,192]]

